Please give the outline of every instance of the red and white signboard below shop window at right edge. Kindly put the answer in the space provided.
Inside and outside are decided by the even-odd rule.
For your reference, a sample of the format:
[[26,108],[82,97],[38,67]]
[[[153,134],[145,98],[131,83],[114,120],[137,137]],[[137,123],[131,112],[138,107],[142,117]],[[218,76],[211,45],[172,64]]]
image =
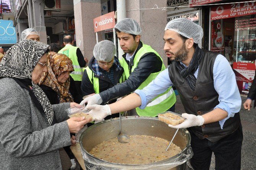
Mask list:
[[233,70],[240,94],[248,94],[255,75],[255,63],[234,62]]

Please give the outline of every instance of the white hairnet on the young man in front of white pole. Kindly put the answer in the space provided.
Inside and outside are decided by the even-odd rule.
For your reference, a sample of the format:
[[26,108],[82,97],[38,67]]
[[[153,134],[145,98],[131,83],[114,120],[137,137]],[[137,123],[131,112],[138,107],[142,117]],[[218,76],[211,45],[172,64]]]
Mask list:
[[120,20],[115,25],[115,28],[127,34],[140,35],[142,32],[139,24],[134,19],[131,19],[131,18],[125,18]]

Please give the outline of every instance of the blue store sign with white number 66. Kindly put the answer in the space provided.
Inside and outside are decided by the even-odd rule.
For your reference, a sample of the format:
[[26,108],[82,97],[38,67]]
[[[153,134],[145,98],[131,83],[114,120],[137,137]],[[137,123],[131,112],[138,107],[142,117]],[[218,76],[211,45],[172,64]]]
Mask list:
[[0,19],[0,46],[1,44],[15,44],[17,42],[13,21]]

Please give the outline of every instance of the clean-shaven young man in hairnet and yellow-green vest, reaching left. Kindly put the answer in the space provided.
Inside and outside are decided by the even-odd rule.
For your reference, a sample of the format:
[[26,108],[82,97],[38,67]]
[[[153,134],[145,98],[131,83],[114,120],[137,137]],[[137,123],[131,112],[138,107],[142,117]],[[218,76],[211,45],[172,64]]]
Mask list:
[[[87,97],[81,104],[107,104],[113,99],[134,92],[136,89],[143,89],[165,69],[159,54],[149,45],[141,42],[141,27],[134,19],[125,18],[120,20],[115,25],[115,30],[120,46],[125,53],[121,65],[125,70],[127,80],[99,94]],[[156,96],[145,109],[136,108],[136,111],[133,110],[128,115],[155,117],[158,113],[168,109],[174,111],[175,102],[175,93],[172,87],[169,87],[162,94]]]

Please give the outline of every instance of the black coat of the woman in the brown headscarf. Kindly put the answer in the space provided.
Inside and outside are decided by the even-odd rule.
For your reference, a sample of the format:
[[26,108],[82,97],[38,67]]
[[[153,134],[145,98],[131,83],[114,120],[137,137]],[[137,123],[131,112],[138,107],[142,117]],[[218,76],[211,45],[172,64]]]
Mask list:
[[[74,102],[79,104],[83,100],[83,96],[78,94],[74,79],[71,76],[69,77],[70,77],[69,91],[74,99]],[[45,86],[44,84],[42,84],[40,87],[42,88],[42,90],[44,91],[45,95],[48,97],[52,105],[60,103],[60,99],[58,97],[57,92],[55,92],[51,87]]]

